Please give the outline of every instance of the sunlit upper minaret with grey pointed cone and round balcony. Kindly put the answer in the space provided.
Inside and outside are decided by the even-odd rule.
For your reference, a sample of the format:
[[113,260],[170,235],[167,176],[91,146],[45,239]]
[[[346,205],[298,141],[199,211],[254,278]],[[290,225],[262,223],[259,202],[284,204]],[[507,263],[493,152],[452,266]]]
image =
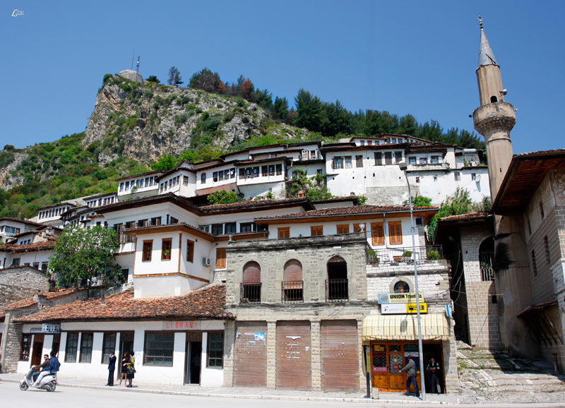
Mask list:
[[512,160],[510,131],[516,124],[516,114],[514,114],[514,107],[504,102],[506,90],[502,88],[500,66],[494,58],[487,35],[484,34],[480,17],[479,21],[481,44],[477,82],[479,83],[481,106],[475,109],[472,117],[475,129],[484,136],[484,143],[487,145],[490,194],[494,201]]

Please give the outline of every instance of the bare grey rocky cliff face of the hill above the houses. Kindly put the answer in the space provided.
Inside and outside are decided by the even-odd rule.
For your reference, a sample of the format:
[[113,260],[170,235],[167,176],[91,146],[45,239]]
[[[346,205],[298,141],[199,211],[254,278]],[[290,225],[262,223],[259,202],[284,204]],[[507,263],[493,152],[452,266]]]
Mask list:
[[254,137],[295,139],[306,133],[271,120],[242,98],[106,76],[83,145],[95,146],[100,164],[120,156],[148,164],[186,149],[225,152]]

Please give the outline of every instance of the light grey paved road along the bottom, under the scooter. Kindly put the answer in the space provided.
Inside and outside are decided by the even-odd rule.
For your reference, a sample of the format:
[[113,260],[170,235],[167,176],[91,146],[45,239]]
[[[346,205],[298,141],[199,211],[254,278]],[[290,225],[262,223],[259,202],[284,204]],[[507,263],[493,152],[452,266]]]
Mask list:
[[[439,405],[439,404],[367,404],[355,402],[317,402],[288,400],[247,400],[243,398],[188,397],[184,395],[160,395],[136,392],[135,389],[104,389],[58,387],[55,392],[30,389],[20,391],[17,383],[0,383],[1,407],[42,407],[42,408],[124,408],[128,407],[206,407],[206,408],[330,408],[330,407],[516,407],[512,404],[499,405]],[[557,404],[527,404],[528,408],[559,407]],[[561,407],[565,407],[562,404]]]

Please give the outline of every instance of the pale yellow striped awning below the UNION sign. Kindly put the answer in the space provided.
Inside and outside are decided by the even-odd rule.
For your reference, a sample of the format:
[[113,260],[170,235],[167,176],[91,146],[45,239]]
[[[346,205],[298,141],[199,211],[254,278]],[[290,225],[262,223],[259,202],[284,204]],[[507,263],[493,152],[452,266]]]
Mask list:
[[[449,321],[440,313],[420,315],[422,340],[449,340]],[[362,340],[418,340],[415,315],[370,315],[363,319]]]

